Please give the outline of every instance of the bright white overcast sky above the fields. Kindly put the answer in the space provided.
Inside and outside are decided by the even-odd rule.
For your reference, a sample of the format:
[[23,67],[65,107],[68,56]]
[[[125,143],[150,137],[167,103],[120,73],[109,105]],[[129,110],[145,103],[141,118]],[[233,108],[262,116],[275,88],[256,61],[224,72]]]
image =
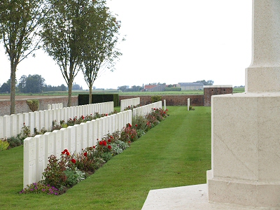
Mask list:
[[[118,14],[123,55],[115,71],[102,71],[97,88],[148,83],[245,85],[251,64],[251,0],[111,0]],[[0,45],[0,84],[10,78],[10,63]],[[18,65],[17,78],[39,74],[47,85],[66,85],[59,67],[42,50]],[[83,73],[74,83],[87,89]]]

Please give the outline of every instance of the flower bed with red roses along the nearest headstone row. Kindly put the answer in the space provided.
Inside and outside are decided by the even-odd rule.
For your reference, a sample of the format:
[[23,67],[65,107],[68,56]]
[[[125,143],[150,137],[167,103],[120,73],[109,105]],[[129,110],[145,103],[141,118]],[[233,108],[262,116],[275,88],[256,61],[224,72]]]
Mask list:
[[60,158],[50,155],[48,166],[43,172],[43,180],[32,183],[20,193],[45,193],[49,195],[65,193],[68,188],[86,179],[113,156],[123,153],[131,142],[146,134],[161,120],[165,120],[167,111],[152,109],[151,113],[145,117],[135,116],[132,119],[132,125],[128,123],[122,131],[107,134],[100,140],[97,139],[95,146],[83,149],[82,153],[71,154],[65,148]]

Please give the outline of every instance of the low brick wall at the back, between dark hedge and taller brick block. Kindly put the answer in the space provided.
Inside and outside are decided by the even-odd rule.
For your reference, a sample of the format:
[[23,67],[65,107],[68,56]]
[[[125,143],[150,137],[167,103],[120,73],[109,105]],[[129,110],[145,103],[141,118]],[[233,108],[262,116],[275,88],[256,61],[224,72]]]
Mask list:
[[[151,104],[151,97],[153,95],[119,95],[119,99],[140,98],[140,105],[144,106]],[[191,106],[204,106],[203,94],[162,94],[162,102],[166,100],[167,106],[188,106],[188,98],[190,98]]]

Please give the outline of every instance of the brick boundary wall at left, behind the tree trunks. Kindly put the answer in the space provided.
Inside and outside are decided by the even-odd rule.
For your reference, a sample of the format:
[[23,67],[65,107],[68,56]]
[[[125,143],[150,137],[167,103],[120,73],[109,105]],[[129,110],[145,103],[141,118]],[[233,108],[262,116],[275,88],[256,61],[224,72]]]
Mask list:
[[[32,98],[35,99],[35,98]],[[63,107],[67,106],[68,97],[46,97],[36,98],[39,100],[39,111],[48,109],[48,104],[63,103]],[[27,105],[27,99],[15,99],[15,114],[27,113],[31,111]],[[72,106],[78,106],[78,96],[72,97]],[[0,116],[10,115],[10,100],[0,101]]]

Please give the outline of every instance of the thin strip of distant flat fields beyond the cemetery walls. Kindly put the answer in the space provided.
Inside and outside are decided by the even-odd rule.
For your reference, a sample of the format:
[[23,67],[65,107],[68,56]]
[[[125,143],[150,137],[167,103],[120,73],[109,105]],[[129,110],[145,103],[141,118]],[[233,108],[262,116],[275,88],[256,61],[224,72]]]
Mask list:
[[[233,88],[233,93],[244,92],[244,87],[235,87]],[[137,94],[203,94],[203,90],[183,90],[183,91],[163,91],[163,92],[120,92],[118,90],[98,90],[93,91],[92,94],[120,94],[120,95],[137,95]],[[78,94],[88,94],[87,90],[82,91],[72,91],[72,95]],[[57,92],[43,92],[40,94],[16,94],[16,99],[26,99],[26,98],[38,98],[38,97],[55,97],[55,96],[67,96],[68,92],[66,91],[57,91]],[[10,99],[10,94],[0,94],[0,99]]]

